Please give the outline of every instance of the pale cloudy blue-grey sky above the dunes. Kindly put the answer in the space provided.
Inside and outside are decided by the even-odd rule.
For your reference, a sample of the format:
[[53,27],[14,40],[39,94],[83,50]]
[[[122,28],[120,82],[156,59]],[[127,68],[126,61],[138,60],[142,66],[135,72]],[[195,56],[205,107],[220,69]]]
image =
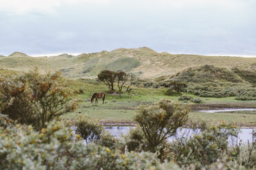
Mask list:
[[255,0],[0,0],[0,55],[149,47],[256,57]]

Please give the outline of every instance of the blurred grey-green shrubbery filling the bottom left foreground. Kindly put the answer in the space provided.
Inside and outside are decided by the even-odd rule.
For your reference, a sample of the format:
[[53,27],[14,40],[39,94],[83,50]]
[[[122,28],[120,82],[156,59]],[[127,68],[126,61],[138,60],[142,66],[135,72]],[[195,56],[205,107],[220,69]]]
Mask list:
[[0,125],[0,169],[164,169],[148,152],[125,152],[84,145],[76,135],[51,122],[41,132],[31,126]]

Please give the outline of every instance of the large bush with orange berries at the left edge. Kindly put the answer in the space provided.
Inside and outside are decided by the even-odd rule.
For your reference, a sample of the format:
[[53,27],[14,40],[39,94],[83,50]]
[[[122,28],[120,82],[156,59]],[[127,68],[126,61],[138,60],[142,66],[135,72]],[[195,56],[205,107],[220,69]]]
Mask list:
[[37,130],[66,112],[76,109],[61,73],[29,73],[0,75],[1,112],[19,123]]

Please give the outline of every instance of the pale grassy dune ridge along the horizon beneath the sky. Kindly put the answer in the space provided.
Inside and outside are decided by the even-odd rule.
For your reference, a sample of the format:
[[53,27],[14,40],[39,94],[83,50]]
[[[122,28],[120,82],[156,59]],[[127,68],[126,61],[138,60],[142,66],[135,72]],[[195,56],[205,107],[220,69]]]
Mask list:
[[141,78],[154,79],[161,76],[175,75],[190,67],[205,64],[232,69],[255,71],[256,58],[229,56],[198,56],[188,54],[157,53],[147,47],[138,49],[116,49],[98,53],[82,53],[78,56],[66,53],[52,57],[30,57],[25,53],[15,52],[7,57],[0,57],[0,69],[28,71],[38,66],[42,71],[59,70],[65,77],[96,77],[104,69],[136,73]]

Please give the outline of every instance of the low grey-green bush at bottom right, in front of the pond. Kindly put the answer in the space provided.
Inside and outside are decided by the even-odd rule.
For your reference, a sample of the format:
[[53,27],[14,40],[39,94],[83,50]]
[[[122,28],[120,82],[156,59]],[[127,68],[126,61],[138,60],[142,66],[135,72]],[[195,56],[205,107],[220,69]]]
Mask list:
[[197,165],[202,169],[211,165],[228,151],[228,137],[235,136],[237,129],[233,125],[220,123],[200,128],[200,133],[195,132],[191,137],[181,136],[169,145],[169,159],[174,159],[178,165],[188,167]]

